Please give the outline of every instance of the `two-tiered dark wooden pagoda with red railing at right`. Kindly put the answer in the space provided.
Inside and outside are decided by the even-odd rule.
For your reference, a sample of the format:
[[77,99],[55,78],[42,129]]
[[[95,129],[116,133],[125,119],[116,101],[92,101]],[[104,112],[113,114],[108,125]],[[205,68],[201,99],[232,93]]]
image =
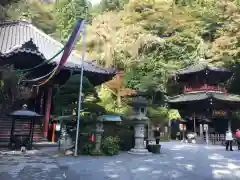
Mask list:
[[[233,73],[225,68],[200,62],[179,70],[175,81],[182,87],[182,94],[169,97],[170,108],[178,109],[186,121],[187,132],[202,133],[208,124],[209,133],[225,134],[240,128],[233,113],[240,108],[240,97],[228,93],[222,85]],[[232,122],[232,126],[231,126]]]

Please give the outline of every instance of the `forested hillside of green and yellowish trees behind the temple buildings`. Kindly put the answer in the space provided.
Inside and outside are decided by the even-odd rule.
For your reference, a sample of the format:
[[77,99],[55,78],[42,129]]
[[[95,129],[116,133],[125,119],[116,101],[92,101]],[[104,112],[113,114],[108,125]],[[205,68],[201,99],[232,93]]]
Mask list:
[[[181,67],[206,59],[236,68],[240,60],[239,0],[102,0],[98,6],[85,0],[55,4],[19,0],[6,4],[1,6],[2,18],[31,20],[63,42],[76,18],[87,19],[88,59],[123,70],[124,86],[148,92],[153,101],[166,91],[169,75]],[[234,90],[240,93],[238,89]]]

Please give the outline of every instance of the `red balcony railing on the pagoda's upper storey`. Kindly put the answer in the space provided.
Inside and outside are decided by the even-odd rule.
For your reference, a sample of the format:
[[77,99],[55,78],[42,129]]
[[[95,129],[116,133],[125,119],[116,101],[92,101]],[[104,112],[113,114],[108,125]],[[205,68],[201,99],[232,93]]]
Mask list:
[[194,86],[194,87],[184,87],[184,92],[194,92],[194,91],[218,91],[218,92],[224,92],[227,93],[227,89],[219,86],[211,86],[204,84],[202,86]]

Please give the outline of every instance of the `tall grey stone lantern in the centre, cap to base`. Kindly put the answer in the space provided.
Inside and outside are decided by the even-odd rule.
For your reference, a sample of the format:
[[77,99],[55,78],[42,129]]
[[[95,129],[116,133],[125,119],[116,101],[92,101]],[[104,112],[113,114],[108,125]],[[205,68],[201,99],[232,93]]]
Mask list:
[[128,153],[139,155],[151,154],[144,145],[144,130],[148,121],[146,117],[148,100],[144,96],[137,94],[129,99],[128,104],[133,108],[133,115],[130,116],[130,119],[134,123],[135,138],[134,148]]

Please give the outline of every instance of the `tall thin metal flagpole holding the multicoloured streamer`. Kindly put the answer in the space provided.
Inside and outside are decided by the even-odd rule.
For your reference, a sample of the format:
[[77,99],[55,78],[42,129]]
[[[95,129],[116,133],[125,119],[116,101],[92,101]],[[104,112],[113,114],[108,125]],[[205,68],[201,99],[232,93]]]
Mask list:
[[86,24],[85,21],[82,21],[82,30],[83,30],[83,42],[82,42],[82,63],[81,63],[81,75],[80,75],[80,85],[79,85],[79,100],[78,100],[78,117],[77,117],[77,131],[76,131],[76,141],[75,141],[75,149],[74,156],[78,155],[78,136],[80,130],[80,120],[81,120],[81,106],[82,106],[82,88],[83,88],[83,70],[84,70],[84,59],[85,59],[85,51],[86,51]]

